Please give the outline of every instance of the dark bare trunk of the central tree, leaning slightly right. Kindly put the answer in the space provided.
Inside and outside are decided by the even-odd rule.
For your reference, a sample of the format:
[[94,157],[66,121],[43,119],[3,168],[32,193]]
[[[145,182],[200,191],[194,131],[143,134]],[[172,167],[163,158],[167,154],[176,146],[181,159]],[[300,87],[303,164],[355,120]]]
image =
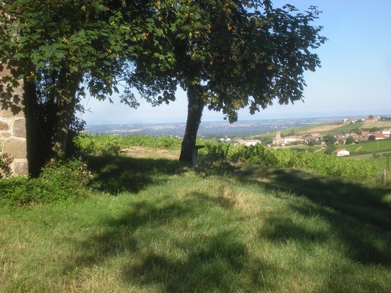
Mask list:
[[179,161],[182,162],[192,163],[192,150],[196,144],[199,123],[205,106],[202,90],[201,85],[190,85],[188,88],[188,120],[179,156]]

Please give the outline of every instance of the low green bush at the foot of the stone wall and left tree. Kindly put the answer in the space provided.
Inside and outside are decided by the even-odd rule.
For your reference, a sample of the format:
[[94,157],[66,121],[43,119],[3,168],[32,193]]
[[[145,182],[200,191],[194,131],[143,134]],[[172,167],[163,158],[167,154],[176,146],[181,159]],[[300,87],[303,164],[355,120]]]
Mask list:
[[0,205],[30,205],[80,199],[88,194],[92,175],[83,161],[72,159],[46,165],[41,176],[15,176],[0,181]]

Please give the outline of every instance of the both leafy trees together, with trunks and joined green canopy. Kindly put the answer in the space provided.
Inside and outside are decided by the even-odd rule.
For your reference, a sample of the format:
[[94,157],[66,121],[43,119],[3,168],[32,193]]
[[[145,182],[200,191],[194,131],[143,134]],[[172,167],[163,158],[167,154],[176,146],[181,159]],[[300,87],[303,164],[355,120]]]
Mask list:
[[313,25],[319,14],[269,0],[4,0],[0,57],[12,75],[2,92],[23,81],[38,166],[69,152],[72,130],[83,127],[74,116],[82,99],[119,93],[137,108],[135,92],[160,105],[182,88],[179,160],[190,162],[205,108],[233,123],[241,108],[254,114],[274,100],[303,100],[303,74],[320,67],[313,51],[326,41]]

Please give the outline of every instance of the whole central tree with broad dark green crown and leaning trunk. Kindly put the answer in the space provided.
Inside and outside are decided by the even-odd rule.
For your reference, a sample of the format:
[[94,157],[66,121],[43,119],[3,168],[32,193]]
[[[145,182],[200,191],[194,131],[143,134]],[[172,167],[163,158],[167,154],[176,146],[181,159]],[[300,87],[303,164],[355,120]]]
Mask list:
[[[165,47],[141,54],[129,83],[154,105],[174,101],[177,86],[187,92],[181,161],[191,161],[205,107],[232,123],[246,106],[254,114],[274,99],[299,101],[303,73],[320,66],[311,52],[326,40],[321,27],[310,25],[316,7],[298,13],[290,5],[274,9],[268,0],[168,0],[157,1],[154,10],[162,34],[146,39]],[[166,63],[152,61],[151,54]]]

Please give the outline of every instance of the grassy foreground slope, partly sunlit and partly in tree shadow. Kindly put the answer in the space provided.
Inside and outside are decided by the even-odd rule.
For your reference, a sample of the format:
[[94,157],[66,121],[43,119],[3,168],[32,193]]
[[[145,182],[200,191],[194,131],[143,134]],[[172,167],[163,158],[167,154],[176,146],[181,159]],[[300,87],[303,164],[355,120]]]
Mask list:
[[0,292],[389,292],[391,190],[143,152],[90,157],[88,199],[0,208]]

